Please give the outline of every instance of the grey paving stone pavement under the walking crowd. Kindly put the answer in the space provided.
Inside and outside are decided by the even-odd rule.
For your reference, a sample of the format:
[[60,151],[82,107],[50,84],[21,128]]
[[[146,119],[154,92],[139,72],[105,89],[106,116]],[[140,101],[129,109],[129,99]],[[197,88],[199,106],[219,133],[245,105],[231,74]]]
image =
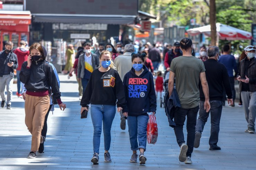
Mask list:
[[[45,152],[37,158],[27,159],[31,135],[25,125],[24,100],[13,95],[12,110],[0,108],[0,169],[175,169],[175,170],[256,170],[256,134],[244,132],[246,121],[243,108],[223,107],[218,145],[220,151],[210,151],[208,140],[210,122],[205,125],[200,147],[192,153],[193,164],[179,162],[179,146],[173,128],[168,126],[164,109],[157,107],[158,139],[155,145],[147,145],[145,166],[130,163],[128,126],[120,129],[120,116],[116,113],[111,129],[110,154],[112,162],[104,162],[103,132],[101,136],[99,165],[92,165],[93,126],[88,118],[80,119],[80,100],[75,77],[67,80],[60,75],[62,101],[65,111],[55,106],[48,117]],[[13,85],[13,94],[17,86]],[[158,100],[159,104],[159,100]],[[210,118],[210,117],[209,117]],[[184,134],[186,138],[186,130]]]

